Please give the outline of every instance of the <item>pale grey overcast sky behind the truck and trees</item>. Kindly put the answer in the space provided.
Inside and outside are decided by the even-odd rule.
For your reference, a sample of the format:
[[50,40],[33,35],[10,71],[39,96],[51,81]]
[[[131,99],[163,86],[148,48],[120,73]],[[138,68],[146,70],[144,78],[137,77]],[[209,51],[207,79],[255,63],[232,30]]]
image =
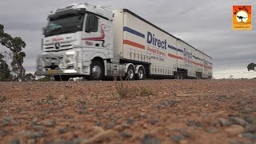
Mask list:
[[1,0],[0,23],[7,33],[21,37],[27,44],[26,72],[35,71],[47,14],[76,2],[133,11],[214,58],[214,78],[256,77],[256,72],[246,70],[250,62],[256,62],[256,14],[253,11],[251,31],[234,31],[231,22],[232,6],[251,5],[254,10],[256,2],[252,0]]

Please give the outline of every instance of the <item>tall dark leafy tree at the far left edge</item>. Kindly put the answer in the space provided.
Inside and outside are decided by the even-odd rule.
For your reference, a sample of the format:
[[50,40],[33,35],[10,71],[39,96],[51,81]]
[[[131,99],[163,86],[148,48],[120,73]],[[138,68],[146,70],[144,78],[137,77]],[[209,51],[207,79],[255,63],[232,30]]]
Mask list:
[[10,34],[4,32],[4,26],[0,24],[0,43],[2,46],[6,46],[10,50],[10,66],[12,66],[11,72],[17,74],[16,78],[25,80],[26,70],[22,66],[26,54],[22,51],[22,48],[26,47],[26,42],[19,37],[11,37]]

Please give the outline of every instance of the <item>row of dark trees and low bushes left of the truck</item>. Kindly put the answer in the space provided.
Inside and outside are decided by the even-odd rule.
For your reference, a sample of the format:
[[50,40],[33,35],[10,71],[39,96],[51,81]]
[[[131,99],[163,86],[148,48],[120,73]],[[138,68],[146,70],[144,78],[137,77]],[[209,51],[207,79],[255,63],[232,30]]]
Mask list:
[[0,24],[0,43],[0,81],[26,81],[31,75],[26,74],[23,66],[26,54],[22,50],[26,47],[26,42],[20,37],[7,34]]

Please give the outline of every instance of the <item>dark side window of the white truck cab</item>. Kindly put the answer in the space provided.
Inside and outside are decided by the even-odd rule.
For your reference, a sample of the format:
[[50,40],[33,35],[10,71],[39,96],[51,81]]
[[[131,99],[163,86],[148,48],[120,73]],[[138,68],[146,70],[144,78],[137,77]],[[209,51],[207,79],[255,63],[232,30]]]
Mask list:
[[88,14],[86,18],[86,33],[98,31],[98,17],[94,14]]

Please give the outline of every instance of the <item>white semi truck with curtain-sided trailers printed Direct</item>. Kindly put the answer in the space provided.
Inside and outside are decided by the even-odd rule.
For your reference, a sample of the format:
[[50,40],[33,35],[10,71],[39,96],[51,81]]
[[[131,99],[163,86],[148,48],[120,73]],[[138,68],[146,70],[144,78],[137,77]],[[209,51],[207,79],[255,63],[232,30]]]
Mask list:
[[210,56],[130,10],[72,4],[54,10],[48,20],[38,75],[53,75],[56,81],[212,78]]

